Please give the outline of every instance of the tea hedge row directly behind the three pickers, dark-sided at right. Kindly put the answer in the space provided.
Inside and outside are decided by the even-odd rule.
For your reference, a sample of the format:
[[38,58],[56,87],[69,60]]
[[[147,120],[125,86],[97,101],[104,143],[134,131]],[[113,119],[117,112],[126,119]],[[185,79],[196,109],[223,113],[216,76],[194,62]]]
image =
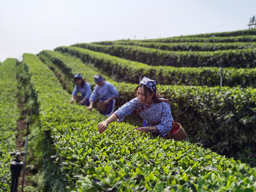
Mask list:
[[[60,53],[44,51],[51,60],[61,62],[69,71],[74,69],[82,74],[90,72],[79,60],[68,58]],[[84,69],[83,69],[84,68]],[[84,72],[83,72],[84,71]],[[95,73],[95,72],[94,72]],[[116,107],[134,97],[137,84],[113,83],[121,93]],[[171,101],[172,116],[180,121],[188,131],[189,138],[200,140],[205,147],[214,151],[235,156],[241,148],[252,150],[244,154],[244,160],[256,158],[255,145],[255,89],[206,86],[163,86],[158,88]],[[248,110],[249,109],[249,110]],[[242,158],[242,157],[241,157]]]

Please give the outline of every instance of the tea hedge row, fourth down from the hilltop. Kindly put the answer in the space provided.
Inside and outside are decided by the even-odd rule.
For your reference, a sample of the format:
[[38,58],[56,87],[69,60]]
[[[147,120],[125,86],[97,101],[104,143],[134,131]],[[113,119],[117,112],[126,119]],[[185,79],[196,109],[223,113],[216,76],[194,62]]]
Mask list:
[[216,52],[172,52],[132,45],[74,44],[72,46],[108,53],[126,60],[151,66],[172,67],[256,67],[256,49],[227,50]]

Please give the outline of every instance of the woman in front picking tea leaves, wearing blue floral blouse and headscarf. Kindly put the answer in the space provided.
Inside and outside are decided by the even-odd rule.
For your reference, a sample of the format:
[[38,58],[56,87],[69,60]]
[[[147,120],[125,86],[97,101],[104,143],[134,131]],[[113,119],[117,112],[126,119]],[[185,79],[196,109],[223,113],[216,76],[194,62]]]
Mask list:
[[99,132],[104,132],[113,121],[122,122],[126,115],[137,110],[144,119],[143,127],[135,129],[141,132],[151,132],[154,136],[167,136],[172,129],[172,114],[169,100],[156,93],[156,81],[144,77],[135,89],[136,98],[118,108],[107,120],[98,124]]

